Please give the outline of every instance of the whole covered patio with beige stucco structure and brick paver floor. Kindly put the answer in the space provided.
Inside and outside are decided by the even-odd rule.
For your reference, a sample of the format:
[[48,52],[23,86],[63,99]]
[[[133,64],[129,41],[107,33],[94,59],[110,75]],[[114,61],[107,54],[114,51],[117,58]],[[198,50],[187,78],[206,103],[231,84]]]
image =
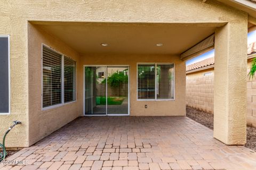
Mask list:
[[[0,4],[10,61],[0,134],[22,122],[6,147],[24,148],[8,159],[28,164],[0,169],[255,169],[243,145],[256,7],[243,2]],[[186,117],[186,61],[212,48],[213,131]]]

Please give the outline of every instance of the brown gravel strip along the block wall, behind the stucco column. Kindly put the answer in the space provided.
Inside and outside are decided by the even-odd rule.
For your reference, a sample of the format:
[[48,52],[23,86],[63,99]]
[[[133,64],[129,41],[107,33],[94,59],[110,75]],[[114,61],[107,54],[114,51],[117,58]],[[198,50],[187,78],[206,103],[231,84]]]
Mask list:
[[[192,120],[206,126],[207,128],[213,130],[213,114],[200,111],[198,109],[188,107],[186,108],[187,116]],[[247,143],[246,148],[250,148],[256,151],[256,128],[247,126]]]

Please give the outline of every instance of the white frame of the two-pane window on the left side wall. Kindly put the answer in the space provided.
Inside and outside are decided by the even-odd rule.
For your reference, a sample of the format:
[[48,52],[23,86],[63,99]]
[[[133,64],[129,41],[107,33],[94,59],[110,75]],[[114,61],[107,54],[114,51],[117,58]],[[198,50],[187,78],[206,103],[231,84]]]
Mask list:
[[[53,105],[53,106],[47,106],[47,107],[43,107],[43,46],[47,47],[47,48],[50,48],[51,50],[53,50],[55,53],[58,53],[61,55],[61,103],[60,104],[57,104],[57,105]],[[52,47],[50,46],[47,46],[45,44],[42,43],[42,49],[41,49],[41,71],[42,71],[42,74],[41,74],[41,79],[42,79],[42,82],[41,82],[41,101],[42,101],[42,104],[41,104],[41,107],[42,107],[42,111],[45,111],[47,109],[52,109],[52,108],[55,108],[55,107],[60,107],[60,106],[63,106],[63,105],[67,105],[67,104],[70,104],[70,103],[75,103],[76,100],[77,100],[77,69],[75,70],[76,72],[76,84],[75,84],[75,94],[76,94],[76,97],[75,97],[75,100],[74,101],[68,101],[68,102],[64,102],[64,57],[68,57],[67,55],[64,55],[60,52],[58,52],[57,50],[53,49]],[[70,58],[71,60],[74,60],[73,58],[71,57],[68,57]],[[75,60],[74,60],[75,61]],[[75,61],[77,63],[77,61]],[[77,67],[77,64],[76,64],[76,67]]]

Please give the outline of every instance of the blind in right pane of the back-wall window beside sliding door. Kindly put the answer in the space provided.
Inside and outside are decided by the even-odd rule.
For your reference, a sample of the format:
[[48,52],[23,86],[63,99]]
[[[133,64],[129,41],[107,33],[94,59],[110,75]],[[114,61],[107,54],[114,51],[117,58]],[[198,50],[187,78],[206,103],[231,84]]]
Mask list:
[[157,99],[174,98],[174,64],[157,64]]

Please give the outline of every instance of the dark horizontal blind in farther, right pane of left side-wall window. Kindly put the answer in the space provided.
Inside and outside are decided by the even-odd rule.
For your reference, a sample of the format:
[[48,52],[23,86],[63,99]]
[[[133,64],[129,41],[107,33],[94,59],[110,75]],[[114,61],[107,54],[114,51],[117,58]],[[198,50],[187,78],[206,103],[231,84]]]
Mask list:
[[64,56],[64,102],[76,100],[76,62]]

